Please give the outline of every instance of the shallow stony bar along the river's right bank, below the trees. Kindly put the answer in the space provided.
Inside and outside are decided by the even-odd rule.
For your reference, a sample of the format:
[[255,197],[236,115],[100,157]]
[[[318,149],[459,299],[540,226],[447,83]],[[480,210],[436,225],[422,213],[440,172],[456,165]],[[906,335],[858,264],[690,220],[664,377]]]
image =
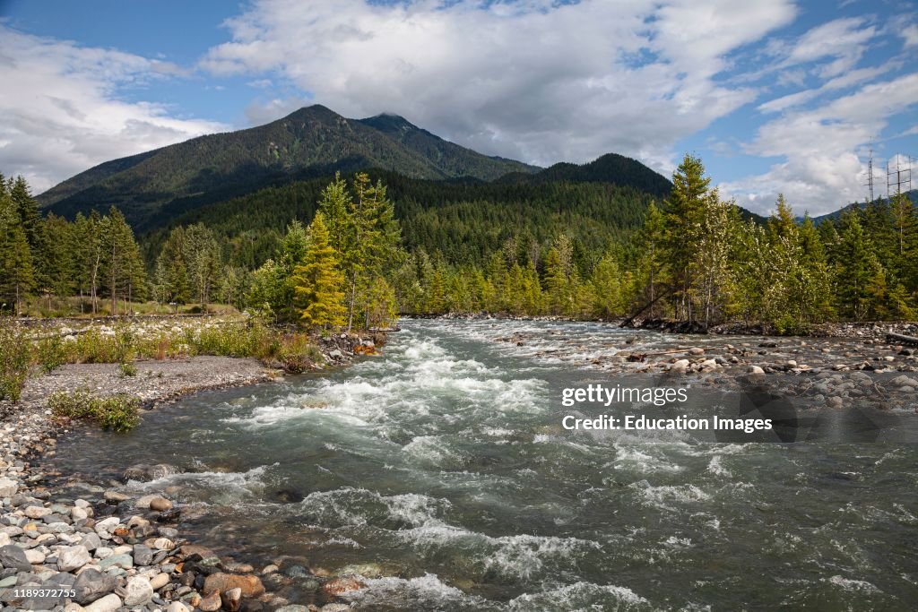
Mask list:
[[[750,382],[804,408],[874,407],[918,411],[918,347],[890,342],[897,328],[850,328],[847,337],[752,337],[637,333],[583,334],[525,330],[498,337],[521,354],[616,375],[685,377],[725,391]],[[857,335],[853,332],[861,332]]]

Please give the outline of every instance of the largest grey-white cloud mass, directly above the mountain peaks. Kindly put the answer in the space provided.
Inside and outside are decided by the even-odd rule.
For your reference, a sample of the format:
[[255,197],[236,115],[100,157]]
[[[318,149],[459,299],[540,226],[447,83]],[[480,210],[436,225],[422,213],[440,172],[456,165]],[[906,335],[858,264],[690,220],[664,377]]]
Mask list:
[[345,116],[394,112],[490,154],[550,164],[614,150],[667,171],[679,139],[755,99],[714,78],[731,51],[794,16],[790,0],[260,0],[201,66],[278,73]]

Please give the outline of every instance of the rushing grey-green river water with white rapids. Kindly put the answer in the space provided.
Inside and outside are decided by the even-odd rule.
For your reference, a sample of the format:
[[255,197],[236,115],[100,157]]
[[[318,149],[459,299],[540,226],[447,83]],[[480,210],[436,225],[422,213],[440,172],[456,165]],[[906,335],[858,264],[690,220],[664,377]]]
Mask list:
[[[521,330],[543,340],[495,341]],[[582,339],[601,356],[622,333],[404,321],[380,357],[195,395],[130,434],[62,440],[57,463],[99,482],[134,463],[182,466],[189,472],[128,488],[174,487],[190,505],[182,529],[242,561],[360,573],[356,609],[918,602],[918,446],[896,435],[845,441],[844,422],[794,443],[565,430],[565,415],[597,413],[565,408],[561,390],[616,377],[553,357],[553,342]],[[692,388],[688,404],[661,410],[730,413],[733,399],[718,393]],[[890,426],[901,427],[914,426]]]

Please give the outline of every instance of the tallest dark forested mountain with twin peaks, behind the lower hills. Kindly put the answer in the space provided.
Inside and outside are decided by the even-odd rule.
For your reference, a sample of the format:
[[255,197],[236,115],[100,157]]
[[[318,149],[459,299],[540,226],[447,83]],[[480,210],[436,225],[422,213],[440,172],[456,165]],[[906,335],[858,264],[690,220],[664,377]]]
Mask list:
[[[139,228],[162,223],[163,208],[181,209],[340,171],[379,168],[418,179],[492,180],[533,172],[520,161],[487,157],[440,139],[402,117],[341,117],[308,106],[257,128],[212,134],[81,172],[38,196],[64,217],[118,206]],[[171,206],[173,209],[176,206]]]

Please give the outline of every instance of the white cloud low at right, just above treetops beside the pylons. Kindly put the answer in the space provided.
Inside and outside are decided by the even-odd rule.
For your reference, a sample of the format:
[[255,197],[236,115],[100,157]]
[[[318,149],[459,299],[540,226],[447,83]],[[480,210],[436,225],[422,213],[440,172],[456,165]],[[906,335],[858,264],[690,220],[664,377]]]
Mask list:
[[916,105],[918,72],[867,84],[823,106],[769,121],[758,129],[746,152],[786,161],[766,173],[722,184],[722,189],[758,212],[767,212],[778,192],[787,195],[796,210],[814,215],[863,200],[867,166],[854,151],[879,135],[892,117]]

